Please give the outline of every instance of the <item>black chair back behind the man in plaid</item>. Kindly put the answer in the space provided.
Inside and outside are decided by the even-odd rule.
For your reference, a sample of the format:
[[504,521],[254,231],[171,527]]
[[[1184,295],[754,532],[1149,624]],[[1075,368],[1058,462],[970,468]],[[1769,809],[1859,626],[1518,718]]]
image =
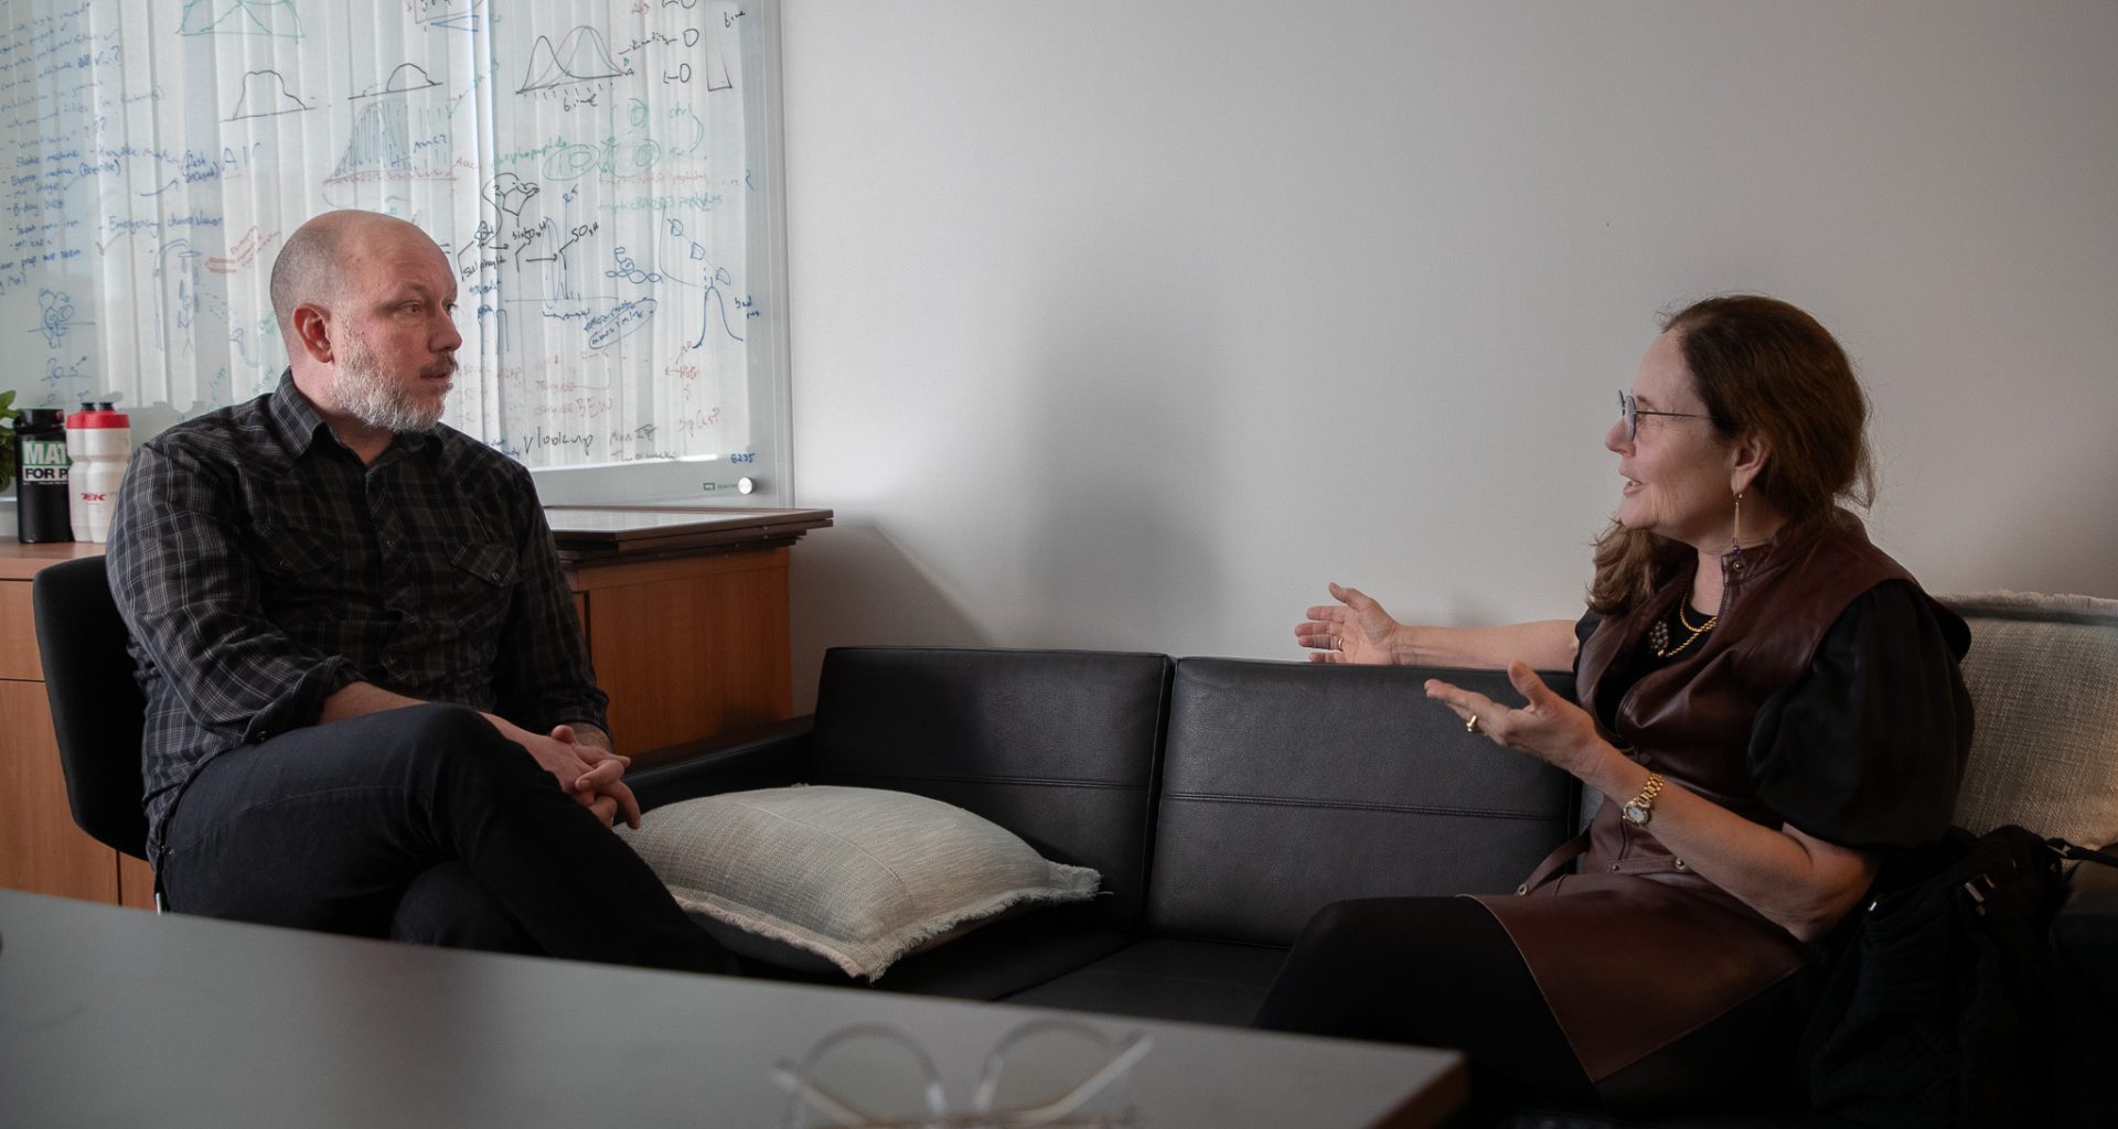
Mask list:
[[110,597],[104,559],[44,568],[30,585],[30,604],[74,822],[100,843],[146,858],[140,782],[146,695],[133,680],[125,619]]

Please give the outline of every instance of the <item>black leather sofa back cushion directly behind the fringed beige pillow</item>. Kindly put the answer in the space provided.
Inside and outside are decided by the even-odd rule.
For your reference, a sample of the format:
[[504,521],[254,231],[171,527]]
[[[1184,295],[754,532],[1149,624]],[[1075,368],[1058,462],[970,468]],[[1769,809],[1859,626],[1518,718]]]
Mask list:
[[1093,924],[1139,926],[1165,655],[834,648],[807,784],[917,792],[983,816],[1040,856],[1103,875]]

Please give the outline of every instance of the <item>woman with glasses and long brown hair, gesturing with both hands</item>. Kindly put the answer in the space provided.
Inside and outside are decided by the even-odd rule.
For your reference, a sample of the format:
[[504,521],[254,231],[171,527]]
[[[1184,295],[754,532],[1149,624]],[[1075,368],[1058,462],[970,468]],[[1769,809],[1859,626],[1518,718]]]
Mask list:
[[[1872,468],[1832,335],[1707,299],[1618,402],[1578,623],[1413,627],[1332,585],[1296,627],[1313,661],[1506,669],[1521,707],[1428,697],[1608,803],[1516,894],[1324,909],[1260,1025],[1459,1046],[1485,1087],[1612,1106],[1783,1095],[1836,926],[1949,826],[1970,631],[1843,508]],[[1580,705],[1533,674],[1563,667]]]

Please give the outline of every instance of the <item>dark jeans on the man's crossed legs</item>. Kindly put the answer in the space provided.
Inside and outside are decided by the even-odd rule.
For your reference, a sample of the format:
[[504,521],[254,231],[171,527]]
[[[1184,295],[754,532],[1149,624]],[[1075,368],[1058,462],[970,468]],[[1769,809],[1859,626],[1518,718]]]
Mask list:
[[212,758],[163,828],[169,909],[426,945],[729,972],[661,879],[457,705]]

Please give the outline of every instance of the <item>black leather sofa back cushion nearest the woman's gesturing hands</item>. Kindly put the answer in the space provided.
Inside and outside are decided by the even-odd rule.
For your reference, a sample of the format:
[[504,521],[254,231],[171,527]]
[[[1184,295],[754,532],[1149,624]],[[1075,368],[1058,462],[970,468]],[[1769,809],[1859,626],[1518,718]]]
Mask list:
[[1182,659],[1148,928],[1290,945],[1341,898],[1514,890],[1574,832],[1574,777],[1466,733],[1428,678],[1521,701],[1497,671]]

